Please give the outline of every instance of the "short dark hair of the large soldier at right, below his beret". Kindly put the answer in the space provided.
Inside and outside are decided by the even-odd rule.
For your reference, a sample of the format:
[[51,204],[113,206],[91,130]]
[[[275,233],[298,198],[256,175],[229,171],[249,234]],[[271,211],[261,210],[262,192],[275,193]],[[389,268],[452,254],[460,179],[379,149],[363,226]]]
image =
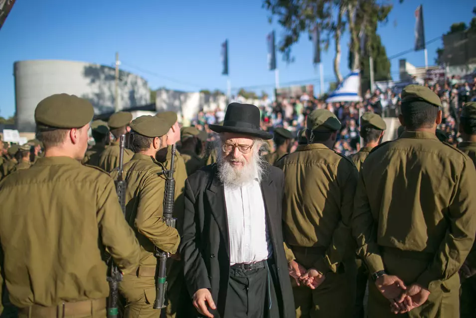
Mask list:
[[431,128],[438,117],[439,108],[425,101],[402,103],[402,116],[407,129]]

